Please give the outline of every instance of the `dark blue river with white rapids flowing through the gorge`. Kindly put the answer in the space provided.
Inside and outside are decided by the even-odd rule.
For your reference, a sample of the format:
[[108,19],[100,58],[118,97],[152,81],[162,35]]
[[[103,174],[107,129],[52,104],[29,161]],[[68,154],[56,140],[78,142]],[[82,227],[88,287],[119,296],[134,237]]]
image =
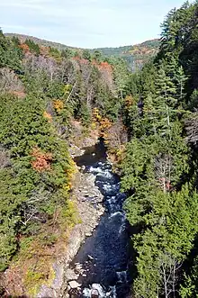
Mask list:
[[129,293],[130,284],[130,236],[122,211],[126,196],[120,193],[120,179],[112,173],[103,142],[86,149],[82,157],[76,158],[76,164],[84,166],[85,172],[94,174],[106,209],[93,235],[85,240],[71,264],[75,267],[80,263],[85,270],[84,276],[78,279],[83,293],[76,297],[91,297],[91,290],[96,289],[99,297],[124,298]]

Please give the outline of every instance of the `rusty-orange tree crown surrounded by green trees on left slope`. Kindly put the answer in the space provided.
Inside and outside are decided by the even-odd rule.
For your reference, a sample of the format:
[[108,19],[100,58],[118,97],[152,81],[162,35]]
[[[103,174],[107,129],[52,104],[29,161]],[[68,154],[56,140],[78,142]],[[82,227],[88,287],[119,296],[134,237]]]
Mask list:
[[34,148],[31,152],[31,157],[34,158],[31,161],[31,166],[36,171],[43,172],[50,169],[50,163],[52,161],[51,153],[44,153],[39,148]]

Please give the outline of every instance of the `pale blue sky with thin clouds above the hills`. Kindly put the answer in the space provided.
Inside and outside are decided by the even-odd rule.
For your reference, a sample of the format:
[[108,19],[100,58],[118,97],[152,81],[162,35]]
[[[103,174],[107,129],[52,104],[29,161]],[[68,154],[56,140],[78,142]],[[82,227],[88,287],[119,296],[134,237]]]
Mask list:
[[82,48],[119,47],[159,37],[182,0],[0,0],[0,26]]

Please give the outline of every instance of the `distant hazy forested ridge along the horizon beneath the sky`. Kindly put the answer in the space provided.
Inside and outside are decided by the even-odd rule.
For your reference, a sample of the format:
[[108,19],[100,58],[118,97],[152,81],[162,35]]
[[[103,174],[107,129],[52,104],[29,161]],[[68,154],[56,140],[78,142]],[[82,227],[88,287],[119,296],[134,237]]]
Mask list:
[[[83,51],[83,49],[80,48],[73,48],[69,47],[67,45],[53,42],[53,41],[45,41],[38,39],[33,36],[23,35],[23,34],[17,34],[17,33],[7,33],[5,34],[8,37],[18,37],[20,41],[24,42],[25,40],[31,40],[35,43],[39,44],[40,46],[44,47],[52,47],[56,48],[58,50],[74,50],[74,51]],[[151,41],[145,41],[143,43],[139,43],[137,45],[130,45],[130,46],[124,46],[119,48],[99,48],[99,49],[90,49],[91,53],[94,53],[94,51],[100,51],[104,57],[117,57],[125,59],[130,66],[132,70],[135,70],[136,68],[142,67],[142,65],[148,61],[151,57],[155,56],[157,54],[159,47],[159,40],[151,40]]]

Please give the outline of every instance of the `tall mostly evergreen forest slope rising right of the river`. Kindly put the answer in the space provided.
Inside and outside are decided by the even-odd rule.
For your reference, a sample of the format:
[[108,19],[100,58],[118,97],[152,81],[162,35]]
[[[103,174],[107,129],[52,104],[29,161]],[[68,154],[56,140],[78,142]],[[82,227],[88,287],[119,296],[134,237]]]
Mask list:
[[122,162],[137,252],[134,297],[198,296],[198,4],[166,15],[157,58],[132,76]]

